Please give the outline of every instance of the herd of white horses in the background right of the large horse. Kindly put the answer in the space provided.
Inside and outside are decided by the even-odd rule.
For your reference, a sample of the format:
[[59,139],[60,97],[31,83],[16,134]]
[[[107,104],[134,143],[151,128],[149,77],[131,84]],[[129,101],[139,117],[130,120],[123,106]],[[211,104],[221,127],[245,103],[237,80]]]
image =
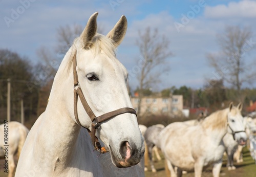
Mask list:
[[166,127],[139,125],[147,147],[145,170],[148,170],[149,159],[151,170],[156,172],[152,159],[155,147],[162,151],[165,170],[171,176],[182,176],[187,171],[201,176],[203,169],[210,165],[213,176],[219,176],[224,153],[228,170],[234,170],[233,161],[243,161],[242,148],[246,144],[256,162],[256,119],[242,117],[241,110],[241,103],[237,107],[230,103],[228,108],[200,121],[175,122]]

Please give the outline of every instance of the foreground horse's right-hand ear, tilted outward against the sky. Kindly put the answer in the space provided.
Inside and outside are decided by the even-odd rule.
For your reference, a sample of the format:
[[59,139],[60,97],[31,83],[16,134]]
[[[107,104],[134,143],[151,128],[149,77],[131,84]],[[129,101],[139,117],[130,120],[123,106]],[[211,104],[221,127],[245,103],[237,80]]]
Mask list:
[[127,19],[124,15],[121,16],[114,28],[106,35],[114,41],[115,47],[119,46],[122,42],[127,30]]

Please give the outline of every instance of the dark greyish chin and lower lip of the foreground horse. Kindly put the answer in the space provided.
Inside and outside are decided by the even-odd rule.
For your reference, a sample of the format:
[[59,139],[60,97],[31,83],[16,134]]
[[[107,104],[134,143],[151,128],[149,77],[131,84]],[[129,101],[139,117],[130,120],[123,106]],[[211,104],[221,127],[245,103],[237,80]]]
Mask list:
[[110,154],[111,154],[112,163],[118,168],[131,167],[131,166],[137,165],[140,162],[140,158],[133,158],[133,157],[131,157],[130,159],[119,158],[118,156],[115,155],[111,146],[110,146]]

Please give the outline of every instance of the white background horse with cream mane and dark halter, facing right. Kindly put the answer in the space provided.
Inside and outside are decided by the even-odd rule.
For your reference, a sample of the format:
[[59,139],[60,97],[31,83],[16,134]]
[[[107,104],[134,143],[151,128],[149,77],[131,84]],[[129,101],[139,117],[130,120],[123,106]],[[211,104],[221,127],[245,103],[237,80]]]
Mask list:
[[[241,110],[241,103],[237,107],[230,103],[228,108],[212,113],[198,125],[175,122],[166,126],[160,134],[161,150],[171,175],[182,176],[182,170],[195,170],[195,176],[201,176],[203,167],[214,164],[212,173],[219,176],[224,135],[233,134],[241,145],[246,142]],[[178,167],[177,174],[174,166]]]

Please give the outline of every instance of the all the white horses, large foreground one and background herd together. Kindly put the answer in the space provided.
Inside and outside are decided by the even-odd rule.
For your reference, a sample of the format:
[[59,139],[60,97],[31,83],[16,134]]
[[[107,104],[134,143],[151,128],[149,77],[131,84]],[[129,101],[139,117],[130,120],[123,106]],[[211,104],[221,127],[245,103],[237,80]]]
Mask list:
[[225,149],[228,168],[234,169],[233,152],[256,130],[252,119],[242,117],[242,104],[230,103],[200,122],[138,125],[126,89],[128,73],[116,58],[127,20],[122,16],[104,36],[97,33],[97,15],[89,18],[63,58],[46,110],[30,131],[18,122],[8,122],[8,176],[13,176],[17,153],[15,176],[140,177],[145,170],[144,151],[156,171],[154,146],[161,149],[172,176],[191,170],[201,176],[210,164],[214,176],[219,176]]

